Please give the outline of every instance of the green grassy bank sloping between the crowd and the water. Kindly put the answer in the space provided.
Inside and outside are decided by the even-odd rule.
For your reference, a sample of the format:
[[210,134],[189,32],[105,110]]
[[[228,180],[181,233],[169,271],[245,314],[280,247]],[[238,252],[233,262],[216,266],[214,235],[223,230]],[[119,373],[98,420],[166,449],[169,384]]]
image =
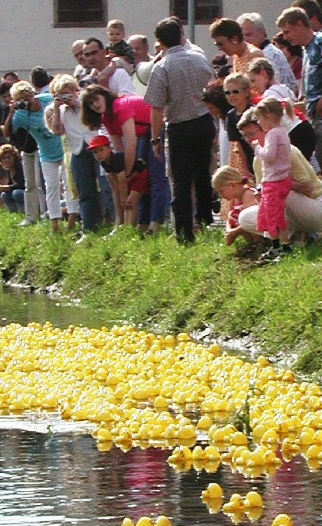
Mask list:
[[166,232],[142,240],[129,228],[113,236],[104,229],[76,245],[68,232],[50,236],[48,222],[20,228],[20,219],[0,210],[0,266],[15,281],[42,289],[58,281],[63,294],[102,309],[102,319],[249,333],[266,355],[294,353],[299,370],[321,373],[321,241],[258,268],[239,257],[242,241],[227,248],[217,228],[191,247]]

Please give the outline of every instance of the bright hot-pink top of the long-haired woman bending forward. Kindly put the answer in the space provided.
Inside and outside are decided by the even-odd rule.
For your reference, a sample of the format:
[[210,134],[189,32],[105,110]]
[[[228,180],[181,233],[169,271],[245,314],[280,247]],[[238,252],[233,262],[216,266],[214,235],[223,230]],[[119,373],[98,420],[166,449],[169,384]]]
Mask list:
[[145,136],[149,128],[151,118],[151,106],[143,102],[143,97],[139,95],[124,95],[114,100],[113,114],[104,113],[102,115],[102,123],[106,127],[110,135],[123,135],[122,126],[130,118],[134,118],[135,135],[137,137]]

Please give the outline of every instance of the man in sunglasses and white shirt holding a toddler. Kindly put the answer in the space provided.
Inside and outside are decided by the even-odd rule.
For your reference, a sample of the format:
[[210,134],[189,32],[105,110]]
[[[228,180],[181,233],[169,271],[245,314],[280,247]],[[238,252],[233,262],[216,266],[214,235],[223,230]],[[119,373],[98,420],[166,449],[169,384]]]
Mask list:
[[106,56],[103,43],[95,37],[88,38],[83,45],[83,55],[90,68],[89,76],[80,85],[97,83],[123,95],[135,95],[135,87],[131,77],[123,68],[116,68],[113,75],[107,77],[105,72],[110,59]]

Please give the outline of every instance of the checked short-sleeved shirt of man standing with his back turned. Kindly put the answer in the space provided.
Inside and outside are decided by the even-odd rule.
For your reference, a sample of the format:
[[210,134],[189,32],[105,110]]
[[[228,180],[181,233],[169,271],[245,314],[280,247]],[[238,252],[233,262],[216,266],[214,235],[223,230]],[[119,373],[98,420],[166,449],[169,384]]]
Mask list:
[[211,74],[202,54],[186,51],[183,46],[170,47],[153,67],[144,102],[166,107],[171,124],[202,117],[209,113],[202,91]]

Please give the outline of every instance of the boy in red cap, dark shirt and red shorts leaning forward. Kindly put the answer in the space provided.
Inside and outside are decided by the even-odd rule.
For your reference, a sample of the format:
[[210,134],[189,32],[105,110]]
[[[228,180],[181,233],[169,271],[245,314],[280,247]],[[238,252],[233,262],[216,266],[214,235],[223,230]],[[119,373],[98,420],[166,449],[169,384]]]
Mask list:
[[114,152],[105,135],[95,135],[90,139],[88,150],[108,173],[113,197],[118,202],[116,207],[124,209],[124,224],[137,225],[139,201],[149,191],[147,164],[142,159],[135,159],[129,176],[125,176],[124,152]]

